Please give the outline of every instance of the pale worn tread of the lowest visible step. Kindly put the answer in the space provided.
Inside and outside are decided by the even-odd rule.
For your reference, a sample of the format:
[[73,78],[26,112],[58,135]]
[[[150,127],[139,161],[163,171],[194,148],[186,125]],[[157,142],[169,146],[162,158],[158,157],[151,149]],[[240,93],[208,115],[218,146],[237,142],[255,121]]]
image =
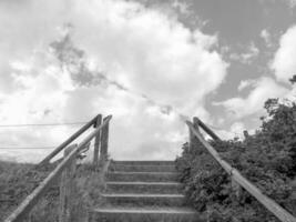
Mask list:
[[94,209],[95,212],[104,213],[178,213],[178,214],[196,214],[191,208],[124,208],[124,206],[103,206]]

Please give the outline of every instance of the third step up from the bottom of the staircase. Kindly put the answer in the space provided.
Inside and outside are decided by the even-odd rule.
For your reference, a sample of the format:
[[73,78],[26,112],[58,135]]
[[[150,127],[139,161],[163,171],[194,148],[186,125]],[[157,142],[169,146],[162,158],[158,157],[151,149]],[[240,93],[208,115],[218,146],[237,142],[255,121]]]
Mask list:
[[171,193],[182,192],[182,184],[177,182],[106,182],[108,192],[118,193]]

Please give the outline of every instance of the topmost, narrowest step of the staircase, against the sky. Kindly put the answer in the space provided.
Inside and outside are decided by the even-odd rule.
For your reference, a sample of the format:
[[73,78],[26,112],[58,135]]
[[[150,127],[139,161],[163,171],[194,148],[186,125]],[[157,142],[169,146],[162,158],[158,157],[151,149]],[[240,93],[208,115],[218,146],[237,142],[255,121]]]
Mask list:
[[111,171],[118,172],[176,172],[175,165],[144,165],[144,164],[118,164],[110,165]]

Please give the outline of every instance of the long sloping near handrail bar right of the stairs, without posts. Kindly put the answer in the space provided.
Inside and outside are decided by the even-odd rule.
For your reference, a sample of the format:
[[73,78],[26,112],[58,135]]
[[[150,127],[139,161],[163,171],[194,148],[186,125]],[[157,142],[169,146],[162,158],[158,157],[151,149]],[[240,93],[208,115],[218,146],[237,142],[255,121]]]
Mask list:
[[276,218],[283,222],[296,222],[296,218],[293,216],[288,211],[277,204],[274,200],[264,195],[259,189],[252,184],[247,179],[245,179],[236,169],[232,168],[226,161],[224,161],[218,152],[203,138],[203,135],[194,129],[190,121],[186,124],[193,132],[193,134],[201,141],[201,143],[207,149],[207,151],[213,155],[213,158],[221,164],[221,167],[231,175],[231,178],[243,186],[248,193],[251,193],[257,201],[259,201],[269,212],[272,212]]

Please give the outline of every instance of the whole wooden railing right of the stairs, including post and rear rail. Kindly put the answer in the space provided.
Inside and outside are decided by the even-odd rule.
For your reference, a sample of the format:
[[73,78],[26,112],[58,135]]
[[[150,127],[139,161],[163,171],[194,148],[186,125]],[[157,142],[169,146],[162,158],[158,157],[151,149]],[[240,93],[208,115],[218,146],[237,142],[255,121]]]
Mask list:
[[220,153],[204,139],[203,134],[200,132],[198,127],[201,127],[214,140],[221,140],[210,128],[206,127],[206,124],[204,124],[198,118],[193,118],[193,123],[186,121],[186,124],[190,128],[190,149],[194,148],[195,140],[197,139],[206,148],[210,154],[218,162],[218,164],[229,174],[232,181],[244,188],[251,195],[253,195],[257,201],[259,201],[271,213],[273,213],[280,221],[296,222],[295,216],[293,216],[275,201],[264,195],[259,189],[257,189],[236,169],[234,169],[220,157]]

